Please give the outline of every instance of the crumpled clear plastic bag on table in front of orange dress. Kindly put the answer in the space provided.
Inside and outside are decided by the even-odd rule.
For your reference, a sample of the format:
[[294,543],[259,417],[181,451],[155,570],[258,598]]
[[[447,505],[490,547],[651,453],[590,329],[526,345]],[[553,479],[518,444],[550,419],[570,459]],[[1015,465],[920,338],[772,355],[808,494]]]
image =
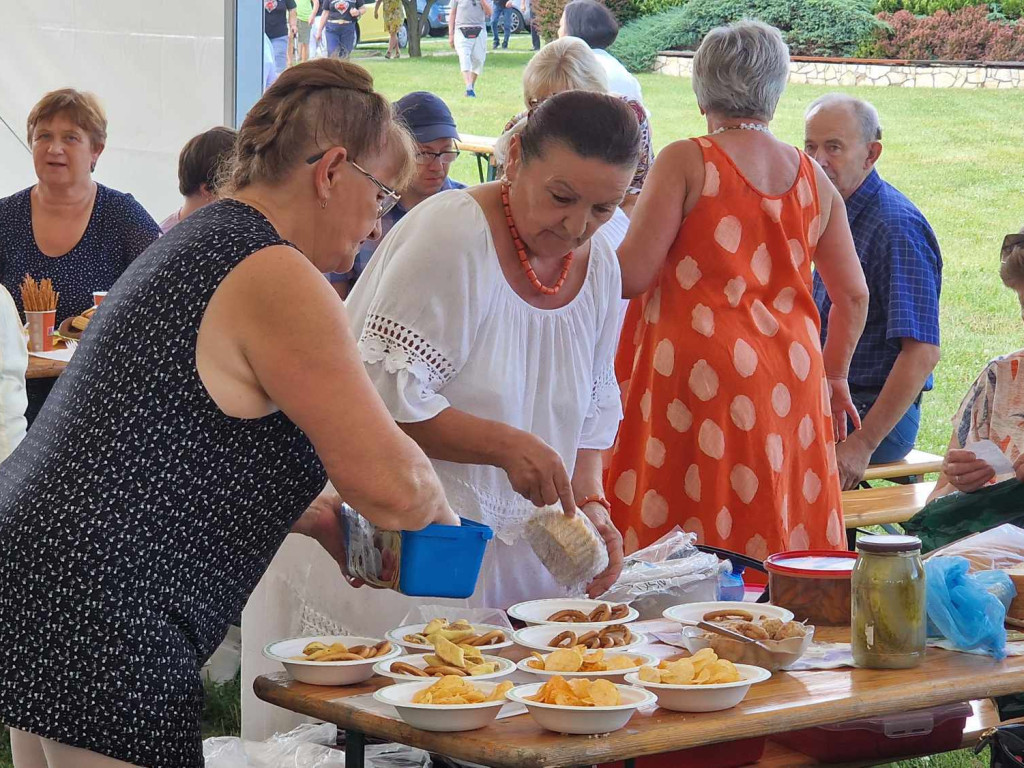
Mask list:
[[626,558],[618,580],[601,599],[629,603],[640,621],[660,618],[680,603],[718,599],[719,573],[728,562],[696,548],[696,536],[678,525],[645,549]]

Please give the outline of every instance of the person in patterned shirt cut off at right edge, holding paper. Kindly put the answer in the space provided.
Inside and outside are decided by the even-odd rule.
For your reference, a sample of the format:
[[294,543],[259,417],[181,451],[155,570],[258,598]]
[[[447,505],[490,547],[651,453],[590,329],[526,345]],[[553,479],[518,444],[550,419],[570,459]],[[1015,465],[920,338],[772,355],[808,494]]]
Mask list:
[[[1002,240],[999,260],[1002,285],[1017,294],[1024,319],[1024,229]],[[959,490],[970,494],[995,479],[992,465],[978,458],[973,443],[991,440],[1013,462],[1018,479],[1024,478],[1024,390],[1018,371],[1024,364],[1024,349],[996,357],[978,375],[964,395],[956,415],[942,472],[929,501]]]

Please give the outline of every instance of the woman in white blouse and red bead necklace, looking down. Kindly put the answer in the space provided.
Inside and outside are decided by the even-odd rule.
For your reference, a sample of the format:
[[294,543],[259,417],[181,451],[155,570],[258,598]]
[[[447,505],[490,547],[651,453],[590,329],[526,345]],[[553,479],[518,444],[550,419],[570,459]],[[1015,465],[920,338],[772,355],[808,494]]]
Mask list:
[[630,184],[638,131],[621,99],[553,96],[514,139],[501,181],[417,206],[348,300],[391,415],[433,461],[452,508],[495,529],[475,604],[562,592],[522,539],[543,505],[579,506],[604,538],[609,566],[590,594],[622,567],[600,460],[622,417],[621,280],[595,231]]

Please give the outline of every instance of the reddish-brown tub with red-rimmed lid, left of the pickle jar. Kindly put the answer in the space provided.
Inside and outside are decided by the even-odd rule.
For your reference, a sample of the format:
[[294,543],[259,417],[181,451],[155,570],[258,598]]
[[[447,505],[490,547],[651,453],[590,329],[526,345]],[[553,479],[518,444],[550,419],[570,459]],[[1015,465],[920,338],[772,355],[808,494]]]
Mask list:
[[795,550],[765,560],[773,605],[788,608],[798,622],[819,627],[850,626],[850,575],[854,552]]

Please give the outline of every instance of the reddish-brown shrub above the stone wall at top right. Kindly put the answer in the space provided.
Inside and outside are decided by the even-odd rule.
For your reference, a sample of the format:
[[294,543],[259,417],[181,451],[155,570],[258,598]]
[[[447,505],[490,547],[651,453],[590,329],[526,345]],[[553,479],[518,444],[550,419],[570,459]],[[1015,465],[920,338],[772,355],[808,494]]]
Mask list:
[[1024,60],[1024,24],[992,20],[984,5],[931,16],[899,10],[879,17],[888,27],[876,33],[874,53],[881,58]]

